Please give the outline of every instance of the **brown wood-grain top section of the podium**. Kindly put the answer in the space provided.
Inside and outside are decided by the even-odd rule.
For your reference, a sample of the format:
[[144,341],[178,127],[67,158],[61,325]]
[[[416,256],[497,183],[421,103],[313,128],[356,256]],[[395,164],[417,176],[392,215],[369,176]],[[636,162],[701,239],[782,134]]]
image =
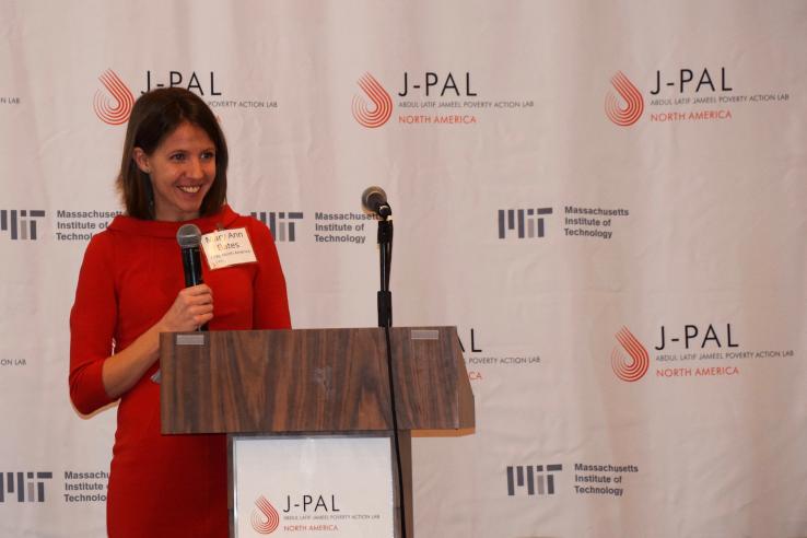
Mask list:
[[[454,327],[390,329],[399,430],[475,423]],[[384,329],[163,334],[162,432],[393,429]]]

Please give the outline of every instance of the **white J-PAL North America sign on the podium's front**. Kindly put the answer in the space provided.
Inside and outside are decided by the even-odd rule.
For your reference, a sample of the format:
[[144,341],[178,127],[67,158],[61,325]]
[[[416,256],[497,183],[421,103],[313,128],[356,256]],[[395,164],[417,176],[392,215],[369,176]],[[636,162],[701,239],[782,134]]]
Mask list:
[[231,438],[233,536],[395,536],[389,437]]

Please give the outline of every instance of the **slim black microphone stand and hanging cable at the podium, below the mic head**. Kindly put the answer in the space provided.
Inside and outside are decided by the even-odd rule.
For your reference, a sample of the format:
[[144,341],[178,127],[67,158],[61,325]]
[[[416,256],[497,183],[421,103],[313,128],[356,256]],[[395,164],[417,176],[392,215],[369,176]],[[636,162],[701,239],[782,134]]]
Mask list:
[[393,344],[389,328],[393,326],[393,294],[389,291],[389,271],[393,264],[393,210],[383,204],[377,211],[378,221],[378,261],[381,268],[381,290],[377,293],[378,327],[384,328],[387,344],[387,372],[389,382],[389,401],[393,413],[393,438],[395,442],[396,467],[398,472],[398,499],[400,502],[401,538],[407,538],[406,496],[404,494],[404,470],[400,457],[400,438],[398,436],[398,410],[395,405],[395,377],[393,373]]

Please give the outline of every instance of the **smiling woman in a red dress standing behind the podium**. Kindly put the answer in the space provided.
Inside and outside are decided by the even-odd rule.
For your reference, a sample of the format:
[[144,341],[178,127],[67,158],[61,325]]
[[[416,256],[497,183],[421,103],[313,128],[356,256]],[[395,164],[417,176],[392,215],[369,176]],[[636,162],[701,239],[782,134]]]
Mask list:
[[[110,537],[227,536],[223,435],[161,435],[160,332],[289,328],[269,230],[226,206],[227,148],[195,94],[154,90],[132,108],[117,186],[126,214],[90,242],[70,315],[70,396],[120,399],[107,495]],[[257,262],[203,268],[184,288],[176,232],[246,229]]]

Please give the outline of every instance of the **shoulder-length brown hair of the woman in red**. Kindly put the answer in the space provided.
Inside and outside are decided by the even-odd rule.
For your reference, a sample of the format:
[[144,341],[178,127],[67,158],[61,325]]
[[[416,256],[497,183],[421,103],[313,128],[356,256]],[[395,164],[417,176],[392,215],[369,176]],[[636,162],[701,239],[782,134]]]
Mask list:
[[134,148],[152,154],[165,137],[186,121],[201,128],[215,145],[215,178],[202,200],[199,214],[213,214],[224,204],[229,154],[219,121],[195,93],[182,87],[161,87],[144,93],[134,102],[126,129],[124,156],[116,185],[129,217],[154,220],[154,191],[149,174],[142,172],[134,162]]

